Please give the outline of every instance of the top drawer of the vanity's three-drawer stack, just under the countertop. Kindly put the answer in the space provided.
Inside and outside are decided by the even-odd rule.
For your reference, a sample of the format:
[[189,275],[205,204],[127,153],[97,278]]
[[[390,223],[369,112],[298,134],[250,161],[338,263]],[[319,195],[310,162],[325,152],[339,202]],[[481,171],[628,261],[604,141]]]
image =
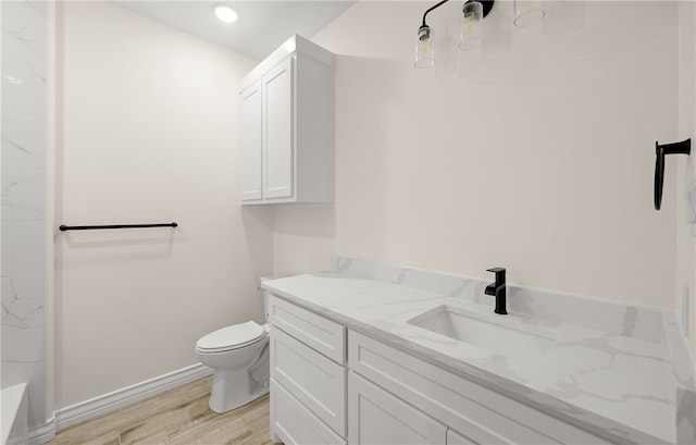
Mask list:
[[338,323],[293,305],[269,297],[271,324],[322,353],[339,364],[346,362],[346,329]]

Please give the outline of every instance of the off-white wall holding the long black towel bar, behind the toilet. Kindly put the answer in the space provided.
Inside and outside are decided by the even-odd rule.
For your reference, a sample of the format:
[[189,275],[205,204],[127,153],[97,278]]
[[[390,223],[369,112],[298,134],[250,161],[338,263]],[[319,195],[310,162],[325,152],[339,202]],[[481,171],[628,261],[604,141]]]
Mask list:
[[179,227],[55,233],[55,409],[197,363],[263,320],[272,214],[240,209],[237,89],[256,61],[102,2],[65,2],[57,219]]

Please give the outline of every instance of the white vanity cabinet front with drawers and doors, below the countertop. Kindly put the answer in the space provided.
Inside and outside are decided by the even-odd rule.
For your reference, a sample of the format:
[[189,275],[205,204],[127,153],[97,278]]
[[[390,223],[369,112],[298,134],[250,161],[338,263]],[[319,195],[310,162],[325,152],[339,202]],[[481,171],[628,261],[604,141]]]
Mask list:
[[270,295],[271,431],[286,445],[607,444]]

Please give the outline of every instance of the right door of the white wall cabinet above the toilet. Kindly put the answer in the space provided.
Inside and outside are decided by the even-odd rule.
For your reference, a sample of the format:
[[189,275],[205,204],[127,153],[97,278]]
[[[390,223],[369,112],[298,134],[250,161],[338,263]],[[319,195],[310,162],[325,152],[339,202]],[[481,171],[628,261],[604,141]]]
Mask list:
[[263,197],[293,196],[294,95],[293,58],[286,59],[263,77],[265,143]]

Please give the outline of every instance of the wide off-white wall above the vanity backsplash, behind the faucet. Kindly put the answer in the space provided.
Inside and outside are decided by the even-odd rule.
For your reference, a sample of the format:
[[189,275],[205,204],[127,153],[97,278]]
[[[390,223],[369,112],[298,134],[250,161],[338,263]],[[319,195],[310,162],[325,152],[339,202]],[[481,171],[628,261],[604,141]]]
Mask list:
[[509,52],[474,62],[473,81],[413,69],[430,4],[359,2],[314,36],[337,54],[336,200],[276,210],[275,272],[332,254],[502,265],[520,284],[673,308],[675,165],[659,212],[652,176],[655,140],[678,136],[676,3],[556,2],[543,26],[511,29],[512,3],[496,2],[486,24],[508,26]]

